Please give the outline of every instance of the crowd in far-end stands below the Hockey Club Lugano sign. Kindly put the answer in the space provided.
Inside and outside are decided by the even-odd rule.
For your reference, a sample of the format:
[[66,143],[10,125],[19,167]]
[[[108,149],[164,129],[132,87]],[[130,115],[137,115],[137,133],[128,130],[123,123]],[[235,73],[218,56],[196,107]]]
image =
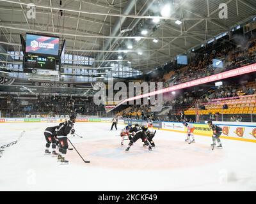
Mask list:
[[0,110],[10,117],[25,115],[97,115],[104,112],[104,106],[95,105],[92,98],[72,98],[63,96],[38,96],[37,99],[12,99],[11,103],[0,100]]

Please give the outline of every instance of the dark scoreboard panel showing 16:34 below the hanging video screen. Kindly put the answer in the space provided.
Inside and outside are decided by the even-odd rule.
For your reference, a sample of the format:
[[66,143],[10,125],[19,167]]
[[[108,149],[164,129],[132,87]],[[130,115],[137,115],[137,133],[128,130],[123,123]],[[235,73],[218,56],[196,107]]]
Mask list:
[[28,55],[24,60],[25,69],[56,69],[55,57],[42,57],[38,55]]

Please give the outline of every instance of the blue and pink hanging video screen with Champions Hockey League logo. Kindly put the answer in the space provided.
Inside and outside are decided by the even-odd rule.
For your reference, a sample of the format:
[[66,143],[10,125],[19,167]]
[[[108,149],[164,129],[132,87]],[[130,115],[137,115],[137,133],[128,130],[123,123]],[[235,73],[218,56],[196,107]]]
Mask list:
[[57,37],[26,34],[26,53],[58,56],[59,41]]

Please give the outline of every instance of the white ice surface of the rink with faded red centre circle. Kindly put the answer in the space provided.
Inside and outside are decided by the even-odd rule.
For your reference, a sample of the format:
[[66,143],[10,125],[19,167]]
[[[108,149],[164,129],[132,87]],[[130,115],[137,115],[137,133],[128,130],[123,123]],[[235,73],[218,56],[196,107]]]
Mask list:
[[[108,123],[76,123],[83,138],[69,139],[69,164],[45,156],[44,129],[54,124],[0,124],[0,144],[25,135],[0,158],[0,191],[256,191],[255,143],[222,140],[211,150],[211,138],[157,130],[156,149],[149,152],[140,140],[129,152],[120,146],[120,129]],[[71,146],[71,145],[70,145]]]

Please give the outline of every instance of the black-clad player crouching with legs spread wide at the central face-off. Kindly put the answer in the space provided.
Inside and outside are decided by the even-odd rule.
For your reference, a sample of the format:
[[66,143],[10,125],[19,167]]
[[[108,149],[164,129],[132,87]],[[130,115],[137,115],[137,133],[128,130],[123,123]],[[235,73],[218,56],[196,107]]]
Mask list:
[[134,126],[134,128],[130,129],[130,131],[129,131],[130,142],[129,142],[127,149],[125,149],[125,151],[128,152],[129,149],[131,148],[132,144],[135,143],[139,139],[141,139],[142,142],[144,142],[145,145],[147,145],[148,150],[152,151],[152,148],[147,140],[147,131],[148,131],[147,127],[145,127],[145,126],[140,127],[138,124],[136,124]]

